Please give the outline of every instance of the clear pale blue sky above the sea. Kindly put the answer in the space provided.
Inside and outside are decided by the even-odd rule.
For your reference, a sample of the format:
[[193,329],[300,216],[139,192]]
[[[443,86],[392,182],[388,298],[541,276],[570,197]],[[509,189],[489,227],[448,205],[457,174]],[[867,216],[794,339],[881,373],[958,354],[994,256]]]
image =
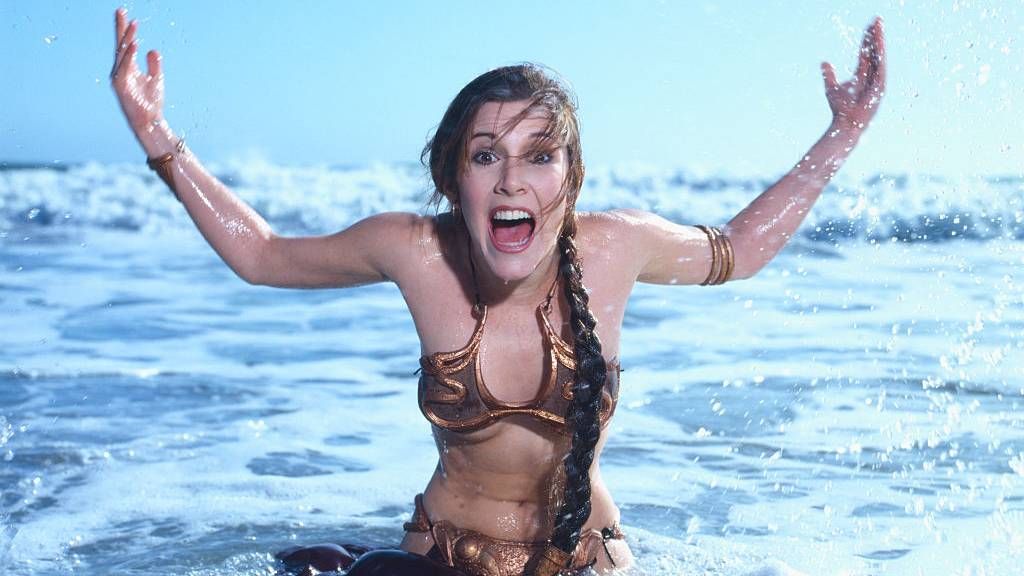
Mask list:
[[[1024,171],[1024,1],[129,2],[201,158],[415,162],[449,100],[534,60],[575,88],[591,165],[769,175],[828,123],[886,19],[889,91],[852,175]],[[0,0],[0,160],[141,161],[106,81],[116,3]]]

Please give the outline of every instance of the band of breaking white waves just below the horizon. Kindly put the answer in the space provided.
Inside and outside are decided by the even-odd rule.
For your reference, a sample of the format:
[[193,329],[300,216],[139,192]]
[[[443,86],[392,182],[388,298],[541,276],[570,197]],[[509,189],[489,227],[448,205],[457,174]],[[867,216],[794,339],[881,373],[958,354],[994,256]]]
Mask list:
[[[246,164],[214,167],[280,230],[325,233],[373,213],[429,211],[430,184],[415,165],[355,168]],[[769,177],[695,174],[685,169],[598,167],[583,209],[643,208],[684,222],[723,222],[771,186]],[[0,167],[0,227],[18,223],[154,231],[190,225],[144,166],[83,164],[61,169]],[[818,201],[804,238],[834,243],[958,238],[1024,239],[1024,176],[842,174]]]

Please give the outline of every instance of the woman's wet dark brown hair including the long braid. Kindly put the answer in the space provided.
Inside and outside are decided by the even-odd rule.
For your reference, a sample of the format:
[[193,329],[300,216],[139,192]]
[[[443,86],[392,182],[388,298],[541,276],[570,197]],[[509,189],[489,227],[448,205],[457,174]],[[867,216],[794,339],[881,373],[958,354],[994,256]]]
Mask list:
[[439,207],[442,200],[447,200],[455,206],[459,201],[458,178],[468,162],[468,136],[476,113],[487,102],[512,101],[526,101],[529,106],[509,122],[505,132],[529,113],[543,111],[549,118],[548,128],[536,146],[538,149],[564,146],[568,165],[562,182],[566,205],[558,249],[559,271],[565,280],[569,303],[577,377],[572,402],[565,414],[566,422],[572,426],[571,447],[563,461],[565,491],[555,517],[551,543],[572,553],[590,518],[590,466],[601,435],[599,410],[606,377],[601,342],[594,331],[597,321],[583,285],[583,266],[575,246],[575,202],[585,172],[575,98],[556,74],[538,65],[509,66],[481,74],[452,100],[433,137],[423,149],[421,161],[430,169],[434,182],[432,202]]

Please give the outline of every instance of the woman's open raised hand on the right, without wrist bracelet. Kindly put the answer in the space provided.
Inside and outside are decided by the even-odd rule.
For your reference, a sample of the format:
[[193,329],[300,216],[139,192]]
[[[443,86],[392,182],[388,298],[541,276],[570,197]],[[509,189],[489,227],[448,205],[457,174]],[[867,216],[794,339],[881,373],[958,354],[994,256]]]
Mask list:
[[840,84],[836,69],[821,63],[825,81],[825,97],[833,111],[833,126],[840,130],[863,131],[879,110],[886,91],[886,40],[882,18],[876,17],[864,32],[860,57],[853,78]]

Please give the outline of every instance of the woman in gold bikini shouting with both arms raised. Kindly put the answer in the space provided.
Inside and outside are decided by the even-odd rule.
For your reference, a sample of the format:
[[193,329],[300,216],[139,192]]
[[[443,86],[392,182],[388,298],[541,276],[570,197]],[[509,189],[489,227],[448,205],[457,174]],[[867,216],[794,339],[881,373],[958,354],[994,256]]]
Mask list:
[[[885,88],[881,20],[855,77],[822,65],[833,122],[803,160],[722,230],[638,210],[575,211],[584,166],[575,106],[535,66],[507,67],[456,96],[424,150],[437,216],[385,213],[334,235],[276,236],[163,120],[160,56],[135,64],[137,23],[116,15],[112,84],[150,166],[241,278],[292,288],[398,285],[421,341],[420,408],[439,462],[416,498],[402,551],[349,574],[603,573],[629,566],[600,477],[618,389],[615,358],[637,281],[749,278],[795,233],[874,115]],[[584,269],[586,274],[584,275]],[[586,281],[586,288],[584,288]],[[289,566],[344,568],[334,545]]]

